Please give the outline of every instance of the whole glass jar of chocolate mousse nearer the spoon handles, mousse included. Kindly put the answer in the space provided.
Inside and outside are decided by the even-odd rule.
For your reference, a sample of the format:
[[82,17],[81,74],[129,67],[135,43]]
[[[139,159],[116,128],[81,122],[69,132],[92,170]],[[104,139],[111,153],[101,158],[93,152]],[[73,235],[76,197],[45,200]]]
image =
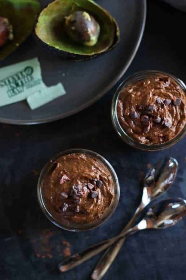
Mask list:
[[117,207],[119,181],[110,163],[85,149],[59,153],[43,167],[38,201],[47,218],[69,231],[84,231],[105,222]]

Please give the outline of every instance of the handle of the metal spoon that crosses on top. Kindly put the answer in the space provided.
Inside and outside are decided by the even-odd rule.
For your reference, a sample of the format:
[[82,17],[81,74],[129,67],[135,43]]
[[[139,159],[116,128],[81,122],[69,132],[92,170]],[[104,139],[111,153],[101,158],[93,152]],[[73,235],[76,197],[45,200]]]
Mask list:
[[74,255],[70,256],[67,259],[64,259],[58,266],[60,272],[66,272],[66,271],[78,266],[79,264],[82,264],[84,261],[92,258],[96,254],[102,252],[103,250],[105,250],[106,248],[111,246],[117,240],[123,238],[126,235],[133,234],[138,230],[139,229],[138,229],[138,225],[137,225],[137,226],[129,229],[128,231],[125,231],[124,233],[121,233],[118,236],[115,236],[111,239],[99,242],[99,243],[97,243],[93,246],[90,246],[87,249],[85,249],[85,250],[83,250],[83,251],[81,251],[77,254],[74,254]]

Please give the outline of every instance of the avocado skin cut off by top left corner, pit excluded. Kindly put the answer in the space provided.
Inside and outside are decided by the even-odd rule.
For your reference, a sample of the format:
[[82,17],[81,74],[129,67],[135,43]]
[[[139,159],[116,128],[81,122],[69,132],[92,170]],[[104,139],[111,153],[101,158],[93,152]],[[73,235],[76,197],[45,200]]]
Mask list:
[[13,39],[0,47],[0,60],[6,58],[29,36],[41,11],[37,0],[0,0],[0,16],[13,27]]

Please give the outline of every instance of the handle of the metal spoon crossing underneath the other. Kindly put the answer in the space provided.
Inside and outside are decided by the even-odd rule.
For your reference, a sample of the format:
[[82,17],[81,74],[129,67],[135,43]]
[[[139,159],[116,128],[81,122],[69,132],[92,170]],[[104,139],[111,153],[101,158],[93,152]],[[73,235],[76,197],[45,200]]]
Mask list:
[[[135,221],[136,217],[139,215],[139,213],[144,209],[145,205],[141,202],[139,204],[139,207],[136,209],[134,216],[128,222],[128,224],[125,226],[125,228],[122,230],[121,233],[126,232],[129,228],[131,228],[133,222]],[[119,253],[119,250],[121,249],[126,237],[120,239],[116,244],[108,248],[103,256],[101,257],[99,263],[95,267],[91,278],[94,280],[100,280],[104,274],[107,272],[110,265],[113,263],[114,259],[116,258],[117,254]]]

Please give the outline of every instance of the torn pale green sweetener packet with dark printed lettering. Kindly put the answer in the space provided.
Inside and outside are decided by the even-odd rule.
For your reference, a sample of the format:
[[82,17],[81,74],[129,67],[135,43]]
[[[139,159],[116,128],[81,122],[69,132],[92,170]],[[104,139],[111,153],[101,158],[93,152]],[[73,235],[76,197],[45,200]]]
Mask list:
[[46,88],[38,58],[0,68],[0,106],[24,100]]

